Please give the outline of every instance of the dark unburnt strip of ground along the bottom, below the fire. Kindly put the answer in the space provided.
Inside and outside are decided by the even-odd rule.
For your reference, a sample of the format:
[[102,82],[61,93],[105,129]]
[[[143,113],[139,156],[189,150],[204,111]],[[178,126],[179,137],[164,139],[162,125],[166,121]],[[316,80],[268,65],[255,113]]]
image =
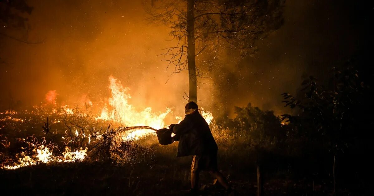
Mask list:
[[[76,162],[40,164],[0,170],[4,195],[187,195],[190,170],[186,164],[150,167]],[[235,195],[256,195],[256,175],[225,174]],[[314,189],[314,191],[313,191]],[[264,195],[332,195],[332,188],[313,181],[268,178]],[[351,195],[338,190],[339,195]],[[199,195],[227,195],[208,173],[200,174]]]

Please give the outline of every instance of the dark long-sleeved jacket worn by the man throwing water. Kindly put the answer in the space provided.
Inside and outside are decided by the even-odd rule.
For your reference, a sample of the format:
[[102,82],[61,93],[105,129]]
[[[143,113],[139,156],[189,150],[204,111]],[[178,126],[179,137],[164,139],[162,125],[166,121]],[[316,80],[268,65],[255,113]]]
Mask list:
[[179,141],[178,157],[217,153],[218,146],[209,125],[197,111],[186,115],[180,124],[172,128],[172,131],[175,133],[174,140]]

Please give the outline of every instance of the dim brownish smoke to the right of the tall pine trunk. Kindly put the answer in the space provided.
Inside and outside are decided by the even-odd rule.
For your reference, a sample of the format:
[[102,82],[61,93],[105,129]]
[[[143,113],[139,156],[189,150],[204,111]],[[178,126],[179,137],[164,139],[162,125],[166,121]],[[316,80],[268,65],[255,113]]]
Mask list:
[[[206,58],[214,62],[215,108],[228,110],[249,102],[277,115],[292,112],[282,103],[281,93],[296,94],[303,76],[329,77],[368,41],[371,18],[364,3],[287,0],[285,24],[257,40],[258,52],[240,59],[228,49]],[[322,82],[322,81],[321,81]],[[225,113],[225,112],[223,112]]]

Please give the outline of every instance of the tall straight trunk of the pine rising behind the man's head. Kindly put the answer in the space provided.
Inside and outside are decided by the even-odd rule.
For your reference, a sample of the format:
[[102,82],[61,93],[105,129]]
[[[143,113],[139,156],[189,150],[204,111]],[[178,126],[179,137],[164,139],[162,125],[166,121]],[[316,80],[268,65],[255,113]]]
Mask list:
[[190,92],[188,102],[197,102],[197,80],[195,66],[194,0],[187,0],[187,60]]

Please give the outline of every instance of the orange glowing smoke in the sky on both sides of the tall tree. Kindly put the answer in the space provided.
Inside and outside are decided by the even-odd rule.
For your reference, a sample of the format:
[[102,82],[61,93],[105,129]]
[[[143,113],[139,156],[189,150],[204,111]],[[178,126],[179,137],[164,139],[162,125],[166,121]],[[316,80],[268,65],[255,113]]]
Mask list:
[[[162,49],[174,46],[164,26],[145,21],[141,1],[73,0],[30,1],[31,40],[24,44],[2,38],[0,109],[27,107],[43,102],[50,90],[64,104],[110,97],[108,77],[118,78],[139,108],[164,111],[175,107],[183,114],[188,93],[187,71],[163,71]],[[343,7],[343,8],[342,8]],[[277,114],[287,112],[280,94],[293,93],[301,75],[318,74],[348,57],[359,34],[352,21],[340,22],[349,6],[336,9],[325,1],[286,2],[285,25],[264,40],[259,52],[241,59],[234,50],[217,56],[199,55],[197,66],[210,78],[201,78],[199,106],[216,113],[251,102]],[[350,16],[344,16],[343,19]],[[340,31],[345,29],[345,31]]]

